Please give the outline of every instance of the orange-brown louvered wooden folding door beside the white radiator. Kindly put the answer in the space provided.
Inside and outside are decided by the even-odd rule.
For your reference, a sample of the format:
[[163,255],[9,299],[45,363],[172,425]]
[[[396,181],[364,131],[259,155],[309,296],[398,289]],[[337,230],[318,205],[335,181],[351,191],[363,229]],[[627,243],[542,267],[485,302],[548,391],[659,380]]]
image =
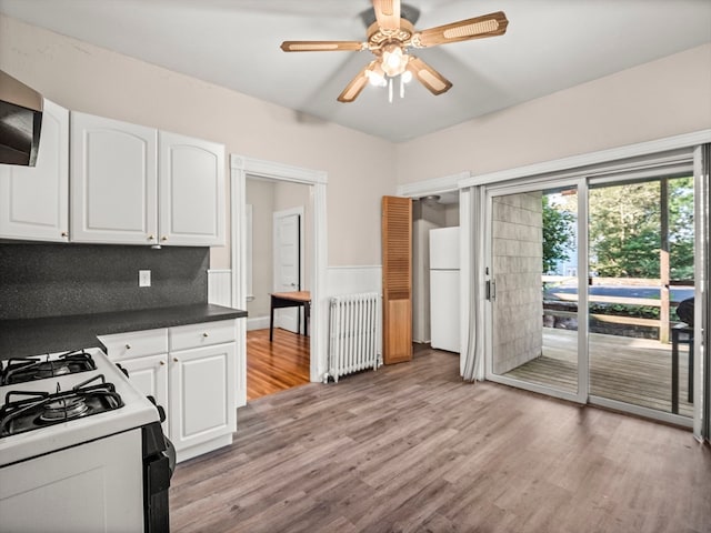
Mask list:
[[383,362],[412,359],[412,200],[382,199]]

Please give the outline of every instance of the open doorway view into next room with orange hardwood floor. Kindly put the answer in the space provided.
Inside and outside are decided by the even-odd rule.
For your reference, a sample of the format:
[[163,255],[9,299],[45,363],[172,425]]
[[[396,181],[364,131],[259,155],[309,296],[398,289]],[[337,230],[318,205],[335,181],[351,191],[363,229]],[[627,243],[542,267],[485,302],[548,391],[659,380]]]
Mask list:
[[271,294],[308,291],[312,185],[247,175],[247,401],[310,381],[300,308],[271,309]]

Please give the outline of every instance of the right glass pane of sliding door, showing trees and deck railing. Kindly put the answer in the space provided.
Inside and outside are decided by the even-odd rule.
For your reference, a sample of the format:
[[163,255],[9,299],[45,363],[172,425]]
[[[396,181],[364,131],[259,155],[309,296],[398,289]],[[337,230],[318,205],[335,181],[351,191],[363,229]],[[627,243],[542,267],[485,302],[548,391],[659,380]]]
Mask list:
[[693,416],[690,174],[590,185],[590,394]]

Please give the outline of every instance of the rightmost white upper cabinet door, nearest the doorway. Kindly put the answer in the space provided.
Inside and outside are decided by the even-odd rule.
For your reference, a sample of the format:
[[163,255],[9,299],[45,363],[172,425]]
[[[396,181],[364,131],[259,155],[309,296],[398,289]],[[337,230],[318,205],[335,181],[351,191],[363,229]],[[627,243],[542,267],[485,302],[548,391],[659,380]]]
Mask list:
[[224,245],[224,145],[160,132],[160,244]]

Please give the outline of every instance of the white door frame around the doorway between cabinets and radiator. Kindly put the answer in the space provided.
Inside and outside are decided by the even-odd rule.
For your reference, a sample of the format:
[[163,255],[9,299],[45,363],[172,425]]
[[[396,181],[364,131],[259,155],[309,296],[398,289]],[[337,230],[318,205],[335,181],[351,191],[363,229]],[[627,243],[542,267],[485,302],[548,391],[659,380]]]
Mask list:
[[[321,381],[328,370],[328,233],[326,211],[326,188],[328,174],[320,170],[303,169],[273,161],[230,155],[230,207],[231,207],[231,289],[232,306],[247,309],[247,177],[266,178],[312,185],[311,212],[313,224],[309,239],[311,254],[311,368],[312,382]],[[244,398],[238,405],[247,403],[247,321],[237,321],[238,379],[244,385]],[[238,389],[239,390],[239,389]]]

